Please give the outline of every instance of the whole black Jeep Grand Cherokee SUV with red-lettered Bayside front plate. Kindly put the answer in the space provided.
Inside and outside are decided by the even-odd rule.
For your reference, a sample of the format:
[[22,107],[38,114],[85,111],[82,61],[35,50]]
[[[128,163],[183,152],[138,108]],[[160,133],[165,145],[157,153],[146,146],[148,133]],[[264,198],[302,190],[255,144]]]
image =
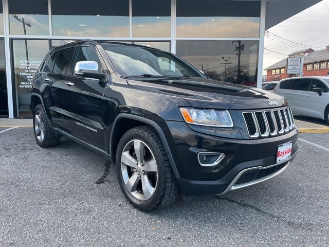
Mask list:
[[298,128],[288,102],[208,79],[162,50],[92,40],[49,51],[33,79],[36,142],[61,136],[107,156],[141,210],[220,195],[282,172]]

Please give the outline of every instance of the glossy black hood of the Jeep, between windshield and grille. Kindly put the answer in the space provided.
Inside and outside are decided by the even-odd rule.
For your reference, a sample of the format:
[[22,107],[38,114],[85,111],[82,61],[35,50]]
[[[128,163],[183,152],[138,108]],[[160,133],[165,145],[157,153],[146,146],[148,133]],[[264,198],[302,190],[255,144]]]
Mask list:
[[[287,105],[284,97],[255,87],[204,78],[127,80],[134,87],[184,98],[205,109],[265,109]],[[278,104],[270,104],[276,101]]]

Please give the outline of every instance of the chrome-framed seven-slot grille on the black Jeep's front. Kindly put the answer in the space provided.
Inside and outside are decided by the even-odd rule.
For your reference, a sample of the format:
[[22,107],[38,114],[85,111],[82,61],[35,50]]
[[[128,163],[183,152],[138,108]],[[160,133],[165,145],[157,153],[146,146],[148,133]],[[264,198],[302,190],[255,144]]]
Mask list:
[[242,115],[252,138],[283,134],[295,128],[290,108],[243,112]]

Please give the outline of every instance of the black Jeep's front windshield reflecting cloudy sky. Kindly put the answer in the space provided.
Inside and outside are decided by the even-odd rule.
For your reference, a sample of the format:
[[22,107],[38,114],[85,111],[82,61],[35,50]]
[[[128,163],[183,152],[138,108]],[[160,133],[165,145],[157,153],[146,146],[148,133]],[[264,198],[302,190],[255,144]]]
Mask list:
[[102,43],[119,74],[124,77],[202,77],[184,60],[148,47]]

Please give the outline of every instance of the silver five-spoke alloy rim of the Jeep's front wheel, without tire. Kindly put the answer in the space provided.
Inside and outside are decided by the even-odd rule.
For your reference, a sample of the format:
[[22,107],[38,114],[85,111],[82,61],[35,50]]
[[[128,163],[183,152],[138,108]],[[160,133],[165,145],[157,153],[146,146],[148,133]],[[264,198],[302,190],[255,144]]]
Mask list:
[[158,168],[148,145],[138,139],[125,145],[121,155],[121,174],[127,190],[136,199],[145,201],[154,195]]

